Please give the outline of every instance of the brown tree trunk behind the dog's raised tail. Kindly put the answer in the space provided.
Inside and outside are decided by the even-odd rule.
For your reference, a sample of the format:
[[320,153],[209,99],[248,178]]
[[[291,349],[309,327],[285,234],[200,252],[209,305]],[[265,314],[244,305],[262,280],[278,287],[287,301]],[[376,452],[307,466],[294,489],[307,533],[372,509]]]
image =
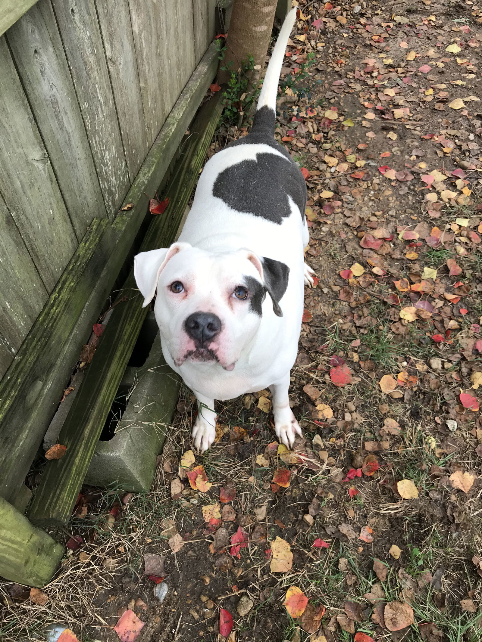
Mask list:
[[[221,62],[219,82],[228,82],[231,73],[247,73],[249,92],[257,89],[271,39],[276,0],[235,0],[229,23],[226,54]],[[254,69],[247,70],[248,56],[253,56]]]

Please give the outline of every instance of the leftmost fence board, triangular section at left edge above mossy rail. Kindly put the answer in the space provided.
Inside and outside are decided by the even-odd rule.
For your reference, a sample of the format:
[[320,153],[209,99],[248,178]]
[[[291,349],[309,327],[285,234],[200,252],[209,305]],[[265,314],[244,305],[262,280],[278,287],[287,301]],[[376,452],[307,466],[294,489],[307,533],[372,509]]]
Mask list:
[[8,358],[0,356],[0,377],[48,299],[19,230],[0,196],[0,327]]

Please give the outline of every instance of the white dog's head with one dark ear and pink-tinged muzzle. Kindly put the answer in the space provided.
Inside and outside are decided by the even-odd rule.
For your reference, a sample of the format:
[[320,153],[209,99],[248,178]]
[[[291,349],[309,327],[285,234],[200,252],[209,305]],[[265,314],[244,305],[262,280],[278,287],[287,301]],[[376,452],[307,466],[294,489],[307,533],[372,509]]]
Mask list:
[[175,365],[210,361],[233,370],[262,319],[266,293],[275,315],[288,285],[289,268],[249,250],[213,254],[174,243],[141,252],[134,276],[144,306],[154,298],[161,336]]

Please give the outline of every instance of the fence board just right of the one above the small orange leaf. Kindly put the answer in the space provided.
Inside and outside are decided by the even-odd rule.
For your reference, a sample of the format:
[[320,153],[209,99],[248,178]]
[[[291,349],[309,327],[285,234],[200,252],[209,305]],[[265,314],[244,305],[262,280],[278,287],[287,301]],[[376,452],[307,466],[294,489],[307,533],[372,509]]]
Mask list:
[[[149,149],[127,0],[96,0],[107,66],[129,168],[134,180]],[[206,47],[204,48],[206,51]]]

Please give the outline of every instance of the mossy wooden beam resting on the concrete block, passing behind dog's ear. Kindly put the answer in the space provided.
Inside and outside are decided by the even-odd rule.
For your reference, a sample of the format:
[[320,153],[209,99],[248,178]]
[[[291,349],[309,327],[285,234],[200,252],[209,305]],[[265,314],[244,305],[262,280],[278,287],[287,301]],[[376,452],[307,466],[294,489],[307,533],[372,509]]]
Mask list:
[[[222,112],[222,96],[205,103],[190,129],[190,136],[163,195],[170,203],[154,218],[141,251],[166,247],[174,241],[179,223],[202,167]],[[122,300],[127,295],[127,300]],[[105,419],[114,401],[134,343],[147,314],[131,272],[120,291],[118,304],[102,335],[94,359],[60,432],[66,455],[48,462],[28,516],[40,525],[66,524],[91,462]]]

